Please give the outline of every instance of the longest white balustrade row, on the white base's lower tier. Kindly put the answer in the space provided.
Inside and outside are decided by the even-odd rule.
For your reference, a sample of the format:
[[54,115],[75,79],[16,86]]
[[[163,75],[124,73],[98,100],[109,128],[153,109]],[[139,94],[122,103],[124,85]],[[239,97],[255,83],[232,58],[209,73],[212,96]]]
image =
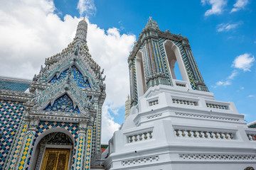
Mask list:
[[216,140],[234,140],[232,132],[210,132],[206,130],[175,130],[176,137],[206,138]]

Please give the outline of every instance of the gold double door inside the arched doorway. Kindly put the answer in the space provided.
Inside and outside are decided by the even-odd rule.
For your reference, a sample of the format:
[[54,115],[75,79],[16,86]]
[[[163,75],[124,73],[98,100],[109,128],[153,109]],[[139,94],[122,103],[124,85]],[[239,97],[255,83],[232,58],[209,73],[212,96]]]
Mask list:
[[68,170],[70,149],[46,148],[41,170]]

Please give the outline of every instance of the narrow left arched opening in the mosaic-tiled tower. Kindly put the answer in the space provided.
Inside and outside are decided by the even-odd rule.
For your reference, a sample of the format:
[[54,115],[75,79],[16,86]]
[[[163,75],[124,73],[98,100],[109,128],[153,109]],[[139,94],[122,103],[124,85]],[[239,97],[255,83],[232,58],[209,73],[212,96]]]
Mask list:
[[136,77],[138,97],[143,96],[146,92],[146,81],[143,68],[142,52],[137,53],[136,59]]

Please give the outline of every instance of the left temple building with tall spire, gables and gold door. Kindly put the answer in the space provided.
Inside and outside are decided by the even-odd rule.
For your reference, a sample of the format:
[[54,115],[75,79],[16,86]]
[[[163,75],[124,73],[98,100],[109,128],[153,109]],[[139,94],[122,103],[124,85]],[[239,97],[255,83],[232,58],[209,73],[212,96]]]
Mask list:
[[33,81],[0,77],[0,169],[90,169],[101,156],[103,70],[87,23]]

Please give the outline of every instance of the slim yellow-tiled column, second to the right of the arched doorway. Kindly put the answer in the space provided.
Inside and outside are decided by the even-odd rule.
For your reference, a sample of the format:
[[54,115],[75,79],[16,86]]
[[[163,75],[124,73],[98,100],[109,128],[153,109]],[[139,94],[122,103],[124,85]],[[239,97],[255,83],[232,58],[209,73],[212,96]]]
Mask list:
[[85,145],[85,170],[90,170],[90,158],[92,152],[92,123],[89,123],[86,134],[86,145]]

